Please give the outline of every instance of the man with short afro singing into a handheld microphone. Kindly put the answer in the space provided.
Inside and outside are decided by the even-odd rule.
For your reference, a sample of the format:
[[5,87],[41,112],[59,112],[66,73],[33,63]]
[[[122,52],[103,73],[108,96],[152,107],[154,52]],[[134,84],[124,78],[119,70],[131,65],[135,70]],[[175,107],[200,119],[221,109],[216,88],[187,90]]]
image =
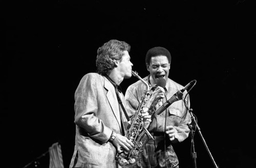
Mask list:
[[[166,102],[177,91],[183,89],[183,86],[168,78],[171,55],[166,48],[151,48],[146,53],[145,62],[150,75],[143,79],[152,86],[147,101],[147,108],[149,108],[148,111],[151,115],[161,106],[159,101]],[[164,87],[157,86],[160,78],[166,81]],[[130,117],[134,116],[144,90],[145,86],[141,80],[127,88],[125,102]],[[186,93],[185,91],[183,98]],[[189,104],[189,95],[186,97],[186,101]],[[174,102],[166,111],[163,111],[160,115],[152,115],[152,122],[147,129],[155,140],[150,139],[148,141],[142,151],[140,160],[134,167],[179,167],[179,160],[172,144],[182,142],[188,137],[189,128],[187,124],[191,122],[191,118],[183,101]]]

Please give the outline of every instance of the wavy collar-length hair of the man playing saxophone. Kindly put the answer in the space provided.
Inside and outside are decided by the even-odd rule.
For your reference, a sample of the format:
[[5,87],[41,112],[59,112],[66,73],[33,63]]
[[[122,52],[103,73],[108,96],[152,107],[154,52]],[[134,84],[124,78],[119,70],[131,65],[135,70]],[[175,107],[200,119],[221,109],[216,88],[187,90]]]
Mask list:
[[97,73],[105,75],[116,66],[116,60],[120,60],[123,51],[130,52],[131,46],[124,41],[110,40],[97,50],[96,67]]

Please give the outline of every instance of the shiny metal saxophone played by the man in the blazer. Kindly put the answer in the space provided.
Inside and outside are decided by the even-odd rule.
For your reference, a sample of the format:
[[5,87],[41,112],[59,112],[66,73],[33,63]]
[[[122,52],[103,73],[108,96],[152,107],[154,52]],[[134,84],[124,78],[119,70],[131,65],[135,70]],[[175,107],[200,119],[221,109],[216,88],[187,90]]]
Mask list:
[[139,155],[145,144],[151,138],[154,139],[150,132],[143,126],[142,121],[142,113],[146,113],[147,111],[146,103],[147,97],[150,95],[151,85],[142,79],[136,71],[132,71],[132,74],[144,83],[146,90],[141,97],[141,102],[136,110],[131,127],[125,134],[125,137],[134,144],[134,147],[130,151],[123,150],[116,155],[116,161],[122,167],[133,167],[139,161]]

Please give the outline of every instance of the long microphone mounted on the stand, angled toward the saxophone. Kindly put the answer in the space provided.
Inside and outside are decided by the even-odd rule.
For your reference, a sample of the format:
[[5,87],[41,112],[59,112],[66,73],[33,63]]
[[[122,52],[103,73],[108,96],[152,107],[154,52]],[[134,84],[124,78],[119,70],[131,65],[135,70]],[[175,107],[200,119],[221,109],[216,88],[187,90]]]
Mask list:
[[181,100],[183,96],[183,92],[194,82],[195,80],[190,81],[183,89],[175,93],[169,100],[167,100],[161,107],[159,107],[156,110],[156,114],[160,115],[170,104],[173,104],[174,102]]

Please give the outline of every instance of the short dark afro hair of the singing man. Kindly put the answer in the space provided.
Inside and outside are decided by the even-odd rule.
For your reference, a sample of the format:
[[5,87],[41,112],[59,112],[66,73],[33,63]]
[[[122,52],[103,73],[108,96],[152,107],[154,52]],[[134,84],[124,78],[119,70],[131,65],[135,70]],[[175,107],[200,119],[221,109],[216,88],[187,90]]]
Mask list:
[[164,47],[153,47],[153,48],[149,49],[146,53],[146,59],[145,59],[146,64],[150,65],[151,58],[159,56],[159,55],[166,56],[169,63],[170,63],[170,60],[172,60],[172,57],[170,56],[170,52],[166,48],[164,48]]

